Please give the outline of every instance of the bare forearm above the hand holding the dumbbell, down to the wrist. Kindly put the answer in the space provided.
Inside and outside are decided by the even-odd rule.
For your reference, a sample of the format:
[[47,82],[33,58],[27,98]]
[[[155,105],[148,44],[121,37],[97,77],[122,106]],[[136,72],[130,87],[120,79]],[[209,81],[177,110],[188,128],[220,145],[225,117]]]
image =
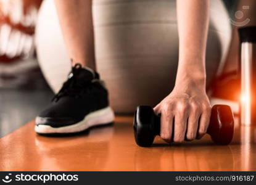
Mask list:
[[205,50],[209,0],[177,0],[179,65],[176,83],[196,80],[205,85]]

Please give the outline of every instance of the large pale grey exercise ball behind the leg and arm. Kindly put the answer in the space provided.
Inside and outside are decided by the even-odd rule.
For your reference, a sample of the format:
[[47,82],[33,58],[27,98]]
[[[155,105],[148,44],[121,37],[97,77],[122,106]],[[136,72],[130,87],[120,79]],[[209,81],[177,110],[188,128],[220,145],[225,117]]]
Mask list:
[[[178,66],[175,0],[94,0],[93,19],[97,71],[115,112],[131,113],[141,104],[154,106],[171,92]],[[225,6],[212,0],[207,84],[220,72],[230,39]],[[70,72],[70,57],[52,0],[45,0],[39,10],[36,51],[47,83],[57,92]]]

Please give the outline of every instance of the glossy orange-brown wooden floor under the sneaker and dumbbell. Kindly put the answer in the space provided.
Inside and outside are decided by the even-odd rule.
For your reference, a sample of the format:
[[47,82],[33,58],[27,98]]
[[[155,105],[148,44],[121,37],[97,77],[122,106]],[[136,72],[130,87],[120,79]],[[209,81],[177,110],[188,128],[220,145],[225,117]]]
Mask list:
[[236,126],[229,146],[200,141],[136,146],[132,118],[117,117],[114,126],[88,134],[46,138],[34,121],[0,139],[0,171],[250,171],[256,170],[255,127]]

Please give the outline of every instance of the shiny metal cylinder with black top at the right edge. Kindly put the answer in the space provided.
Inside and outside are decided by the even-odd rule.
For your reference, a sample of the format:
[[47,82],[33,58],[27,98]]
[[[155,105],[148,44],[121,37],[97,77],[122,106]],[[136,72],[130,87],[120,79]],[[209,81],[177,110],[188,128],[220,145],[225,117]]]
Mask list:
[[256,27],[242,27],[238,31],[241,42],[241,123],[252,125],[256,123]]

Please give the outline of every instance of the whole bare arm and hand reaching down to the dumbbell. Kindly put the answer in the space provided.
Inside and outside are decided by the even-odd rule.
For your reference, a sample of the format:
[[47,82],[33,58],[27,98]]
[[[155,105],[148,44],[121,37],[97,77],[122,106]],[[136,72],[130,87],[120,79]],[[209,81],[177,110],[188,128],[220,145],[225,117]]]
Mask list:
[[154,107],[161,114],[160,137],[167,142],[200,139],[211,107],[205,91],[209,0],[177,0],[179,64],[175,88]]

